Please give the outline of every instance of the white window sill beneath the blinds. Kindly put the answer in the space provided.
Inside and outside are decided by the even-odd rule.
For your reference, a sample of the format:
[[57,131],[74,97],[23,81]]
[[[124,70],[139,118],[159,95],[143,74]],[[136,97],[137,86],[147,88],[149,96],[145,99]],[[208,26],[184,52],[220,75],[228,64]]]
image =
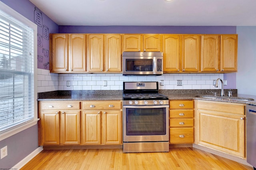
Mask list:
[[25,129],[28,129],[28,128],[30,128],[30,127],[36,125],[37,122],[38,122],[38,120],[39,120],[39,119],[36,119],[36,120],[34,120],[34,121],[31,121],[31,122],[29,122],[29,123],[26,123],[25,125],[22,125],[22,126],[20,126],[20,127],[17,127],[17,128],[15,128],[15,129],[12,129],[12,130],[10,130],[10,131],[8,131],[8,132],[2,133],[2,134],[0,135],[0,141],[4,140],[4,139],[6,139],[6,138],[8,138],[8,137],[10,137],[10,136],[12,136],[12,135],[15,135],[15,134],[17,134],[17,133],[19,133],[19,132],[21,132],[21,131],[24,131]]

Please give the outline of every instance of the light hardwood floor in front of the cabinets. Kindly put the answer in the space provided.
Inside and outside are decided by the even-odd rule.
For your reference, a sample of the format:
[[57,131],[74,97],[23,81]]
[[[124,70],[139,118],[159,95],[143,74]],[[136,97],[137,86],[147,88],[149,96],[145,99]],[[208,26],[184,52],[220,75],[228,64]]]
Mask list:
[[122,149],[44,149],[21,170],[253,170],[232,160],[190,148],[123,153]]

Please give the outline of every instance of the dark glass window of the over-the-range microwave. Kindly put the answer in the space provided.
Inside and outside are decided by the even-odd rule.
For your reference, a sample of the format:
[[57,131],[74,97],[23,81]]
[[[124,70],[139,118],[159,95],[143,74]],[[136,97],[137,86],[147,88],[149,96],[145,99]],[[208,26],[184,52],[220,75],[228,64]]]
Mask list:
[[153,71],[153,59],[126,59],[126,71]]

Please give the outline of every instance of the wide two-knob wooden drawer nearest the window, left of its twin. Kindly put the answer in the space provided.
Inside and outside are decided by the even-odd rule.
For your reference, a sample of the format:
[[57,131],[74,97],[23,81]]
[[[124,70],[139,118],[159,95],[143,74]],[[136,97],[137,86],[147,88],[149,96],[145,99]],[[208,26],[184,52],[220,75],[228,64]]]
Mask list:
[[51,101],[51,102],[41,102],[41,107],[44,110],[70,110],[70,109],[80,109],[80,103],[78,101]]

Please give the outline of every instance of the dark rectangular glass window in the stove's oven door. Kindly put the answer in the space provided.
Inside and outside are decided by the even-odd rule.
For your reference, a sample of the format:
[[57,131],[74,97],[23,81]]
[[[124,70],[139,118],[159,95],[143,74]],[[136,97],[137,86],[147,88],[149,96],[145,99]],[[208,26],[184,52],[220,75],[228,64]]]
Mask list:
[[166,135],[166,108],[126,108],[126,135]]

